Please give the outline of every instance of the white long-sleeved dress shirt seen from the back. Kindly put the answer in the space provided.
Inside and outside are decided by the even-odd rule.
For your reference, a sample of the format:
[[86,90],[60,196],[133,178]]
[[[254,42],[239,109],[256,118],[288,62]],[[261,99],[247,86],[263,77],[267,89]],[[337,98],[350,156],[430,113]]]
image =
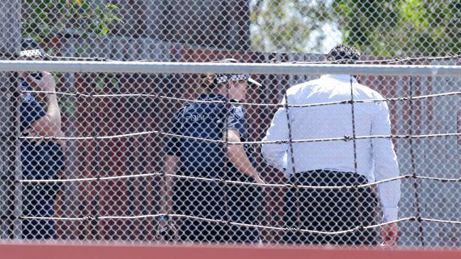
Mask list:
[[[355,100],[383,98],[377,91],[352,79]],[[298,84],[287,90],[289,105],[326,103],[350,100],[349,75],[323,75],[320,79]],[[282,100],[282,104],[285,100]],[[290,107],[291,136],[296,139],[342,138],[352,134],[352,105],[350,103],[313,107]],[[387,103],[354,103],[355,136],[389,135],[391,125]],[[289,139],[287,112],[279,108],[263,141]],[[399,175],[396,154],[391,139],[356,139],[357,173],[369,183]],[[352,140],[345,142],[293,143],[295,173],[313,170],[355,172]],[[294,173],[289,143],[263,144],[262,156],[267,163],[284,171],[289,178]],[[400,181],[378,186],[384,208],[384,220],[397,219],[400,200]]]

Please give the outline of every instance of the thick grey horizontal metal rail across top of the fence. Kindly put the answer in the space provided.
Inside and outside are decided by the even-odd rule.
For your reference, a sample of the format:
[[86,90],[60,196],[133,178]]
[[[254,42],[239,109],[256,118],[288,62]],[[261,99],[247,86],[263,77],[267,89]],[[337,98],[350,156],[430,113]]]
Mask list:
[[216,74],[361,74],[461,76],[461,66],[362,64],[216,64],[196,62],[0,61],[0,71]]

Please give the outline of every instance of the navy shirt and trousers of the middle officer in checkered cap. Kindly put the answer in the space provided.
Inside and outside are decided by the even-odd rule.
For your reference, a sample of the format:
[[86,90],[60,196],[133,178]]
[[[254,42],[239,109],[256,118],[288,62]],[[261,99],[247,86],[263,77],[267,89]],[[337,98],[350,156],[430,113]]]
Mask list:
[[[224,96],[216,94],[202,94],[198,100],[226,102]],[[172,133],[222,140],[227,129],[235,129],[240,133],[240,140],[246,141],[246,123],[245,111],[240,106],[228,105],[226,108],[224,103],[189,103],[175,116]],[[177,156],[181,161],[179,175],[255,182],[228,161],[226,148],[222,143],[172,137],[167,143],[166,151],[167,155]],[[252,146],[245,145],[245,151],[254,166]],[[257,193],[257,188],[249,185],[176,179],[173,213],[256,224],[259,208]],[[182,219],[180,222],[179,239],[182,241],[259,241],[258,231],[254,228],[191,219]]]

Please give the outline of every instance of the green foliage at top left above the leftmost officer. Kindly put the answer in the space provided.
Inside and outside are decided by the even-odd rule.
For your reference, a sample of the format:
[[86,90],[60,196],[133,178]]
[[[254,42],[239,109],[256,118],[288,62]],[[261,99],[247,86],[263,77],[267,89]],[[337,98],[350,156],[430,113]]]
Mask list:
[[104,4],[104,0],[23,1],[23,37],[35,40],[69,29],[79,30],[84,38],[102,37],[114,23],[123,23],[118,17],[118,6]]

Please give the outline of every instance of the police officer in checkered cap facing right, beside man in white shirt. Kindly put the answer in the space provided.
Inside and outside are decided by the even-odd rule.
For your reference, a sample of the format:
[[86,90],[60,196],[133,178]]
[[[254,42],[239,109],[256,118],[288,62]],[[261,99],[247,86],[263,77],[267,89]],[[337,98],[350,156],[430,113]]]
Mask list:
[[[222,62],[237,62],[224,59]],[[201,76],[203,93],[197,101],[188,103],[174,118],[173,134],[227,142],[248,140],[245,110],[229,104],[245,100],[248,83],[260,86],[248,74],[205,74]],[[200,101],[213,101],[202,103]],[[254,149],[250,145],[222,144],[182,137],[172,137],[167,143],[165,173],[177,173],[201,178],[221,178],[249,183],[264,183],[255,170]],[[260,188],[204,180],[170,178],[163,188],[163,209],[170,214],[183,214],[206,219],[221,219],[256,224]],[[170,189],[168,189],[170,188]],[[171,197],[167,190],[172,190]],[[172,209],[170,209],[172,208]],[[179,241],[199,243],[255,243],[257,229],[231,226],[200,219],[178,219],[175,231],[167,217],[160,218],[160,234]]]

